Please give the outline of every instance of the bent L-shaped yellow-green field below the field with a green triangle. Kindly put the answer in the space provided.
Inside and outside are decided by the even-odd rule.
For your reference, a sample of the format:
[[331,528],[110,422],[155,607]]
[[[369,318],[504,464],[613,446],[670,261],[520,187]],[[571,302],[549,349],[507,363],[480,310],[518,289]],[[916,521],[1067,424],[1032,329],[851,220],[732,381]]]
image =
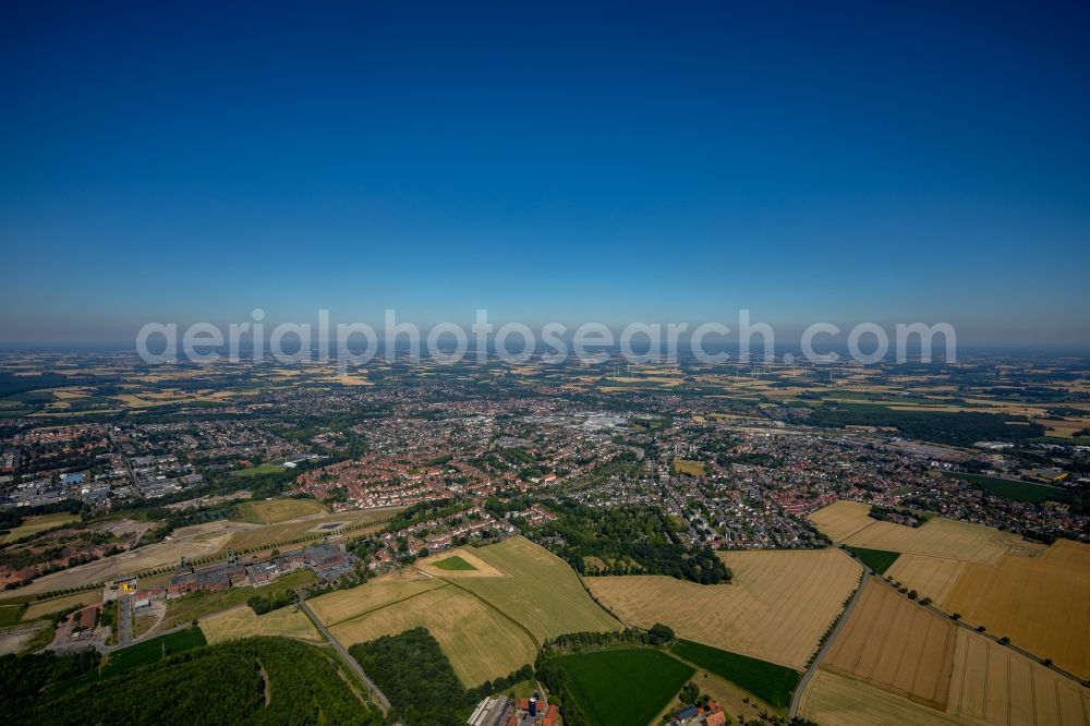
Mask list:
[[467,688],[534,662],[537,649],[529,634],[473,595],[455,585],[439,584],[415,597],[335,625],[330,632],[348,648],[411,628],[427,628]]

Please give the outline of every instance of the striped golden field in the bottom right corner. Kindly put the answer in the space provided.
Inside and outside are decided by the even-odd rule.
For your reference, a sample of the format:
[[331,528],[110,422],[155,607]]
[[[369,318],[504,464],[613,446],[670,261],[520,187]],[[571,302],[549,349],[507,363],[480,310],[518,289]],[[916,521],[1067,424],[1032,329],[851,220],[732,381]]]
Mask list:
[[1090,690],[959,628],[947,711],[974,724],[1085,726],[1090,724]]

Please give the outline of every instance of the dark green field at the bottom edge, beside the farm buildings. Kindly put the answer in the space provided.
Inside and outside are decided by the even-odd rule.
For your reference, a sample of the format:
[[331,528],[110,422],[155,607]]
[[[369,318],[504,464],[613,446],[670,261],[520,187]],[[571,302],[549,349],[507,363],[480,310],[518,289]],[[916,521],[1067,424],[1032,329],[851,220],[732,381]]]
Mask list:
[[646,648],[558,655],[554,662],[595,726],[650,724],[695,673]]

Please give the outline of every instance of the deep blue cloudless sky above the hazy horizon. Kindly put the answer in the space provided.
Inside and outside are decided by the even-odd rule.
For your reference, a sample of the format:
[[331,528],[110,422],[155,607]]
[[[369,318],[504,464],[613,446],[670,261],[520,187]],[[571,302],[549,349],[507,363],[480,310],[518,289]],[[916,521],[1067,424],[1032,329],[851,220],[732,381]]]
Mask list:
[[0,342],[257,306],[1090,342],[1085,3],[148,4],[4,11]]

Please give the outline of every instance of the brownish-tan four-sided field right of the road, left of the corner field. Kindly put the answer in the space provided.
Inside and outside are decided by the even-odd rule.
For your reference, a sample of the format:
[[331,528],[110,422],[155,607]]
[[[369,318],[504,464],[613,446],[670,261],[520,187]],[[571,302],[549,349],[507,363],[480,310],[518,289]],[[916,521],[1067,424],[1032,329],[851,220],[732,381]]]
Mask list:
[[822,667],[945,709],[957,627],[872,578]]

